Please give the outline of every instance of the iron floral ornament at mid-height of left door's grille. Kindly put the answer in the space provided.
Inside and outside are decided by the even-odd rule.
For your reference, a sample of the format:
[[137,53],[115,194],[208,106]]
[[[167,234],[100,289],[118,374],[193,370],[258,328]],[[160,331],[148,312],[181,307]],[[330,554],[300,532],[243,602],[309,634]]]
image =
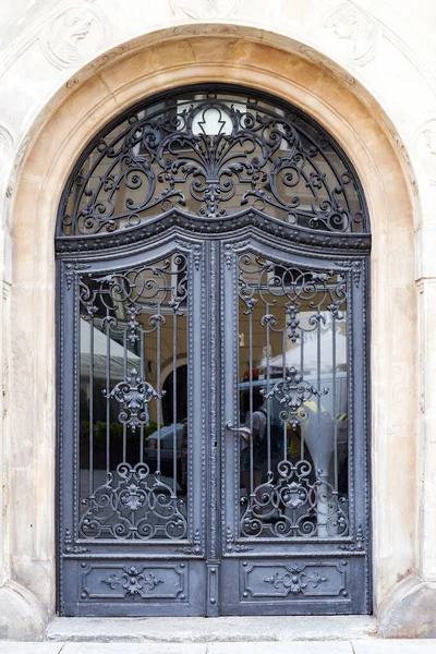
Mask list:
[[132,432],[149,422],[148,403],[153,398],[160,400],[165,390],[158,393],[148,382],[144,382],[136,368],[132,368],[130,377],[119,382],[110,392],[105,388],[106,399],[116,399],[124,409],[118,414],[119,421],[131,427]]

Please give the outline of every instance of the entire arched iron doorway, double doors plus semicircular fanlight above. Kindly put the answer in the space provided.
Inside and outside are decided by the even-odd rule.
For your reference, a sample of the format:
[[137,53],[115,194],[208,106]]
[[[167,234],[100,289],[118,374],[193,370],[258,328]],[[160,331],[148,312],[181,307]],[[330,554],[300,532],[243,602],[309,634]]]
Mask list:
[[347,156],[262,93],[162,94],[88,145],[57,232],[63,615],[371,610],[370,247]]

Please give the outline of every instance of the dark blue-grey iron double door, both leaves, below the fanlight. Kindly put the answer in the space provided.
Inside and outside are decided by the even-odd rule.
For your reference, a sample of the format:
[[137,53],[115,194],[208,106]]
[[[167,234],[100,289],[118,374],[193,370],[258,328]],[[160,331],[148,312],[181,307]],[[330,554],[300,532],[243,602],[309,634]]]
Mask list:
[[59,262],[59,610],[368,613],[366,261],[252,230]]

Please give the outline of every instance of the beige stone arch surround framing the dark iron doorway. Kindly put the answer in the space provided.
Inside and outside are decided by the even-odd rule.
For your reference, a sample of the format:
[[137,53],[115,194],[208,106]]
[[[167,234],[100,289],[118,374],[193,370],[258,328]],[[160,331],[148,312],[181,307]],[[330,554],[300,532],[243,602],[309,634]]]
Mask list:
[[[101,68],[92,70],[87,78],[85,71],[84,81],[73,81],[62,101],[52,101],[16,191],[8,433],[11,507],[21,504],[23,510],[20,517],[9,512],[9,529],[12,576],[33,593],[39,606],[35,610],[27,604],[21,613],[39,611],[46,619],[55,611],[52,237],[61,190],[72,161],[112,116],[162,88],[207,81],[243,82],[299,105],[336,136],[364,185],[374,234],[373,523],[374,598],[378,610],[397,580],[416,567],[416,494],[402,497],[401,519],[395,500],[404,475],[412,488],[416,483],[413,216],[408,182],[383,131],[385,117],[370,110],[352,93],[347,78],[339,80],[313,57],[307,60],[283,46],[235,37],[231,31],[225,36],[186,35],[148,48],[145,44],[135,47],[132,53],[121,52],[119,58],[114,51],[110,64],[101,62]],[[335,73],[343,76],[340,69]],[[34,401],[28,402],[28,397]],[[28,497],[34,500],[26,501]]]

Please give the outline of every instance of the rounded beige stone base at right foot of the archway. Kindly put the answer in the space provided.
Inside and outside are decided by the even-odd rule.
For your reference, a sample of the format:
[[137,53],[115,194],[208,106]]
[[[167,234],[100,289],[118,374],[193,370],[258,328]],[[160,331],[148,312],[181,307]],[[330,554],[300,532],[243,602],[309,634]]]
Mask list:
[[436,583],[408,577],[383,602],[378,620],[383,638],[436,638]]

